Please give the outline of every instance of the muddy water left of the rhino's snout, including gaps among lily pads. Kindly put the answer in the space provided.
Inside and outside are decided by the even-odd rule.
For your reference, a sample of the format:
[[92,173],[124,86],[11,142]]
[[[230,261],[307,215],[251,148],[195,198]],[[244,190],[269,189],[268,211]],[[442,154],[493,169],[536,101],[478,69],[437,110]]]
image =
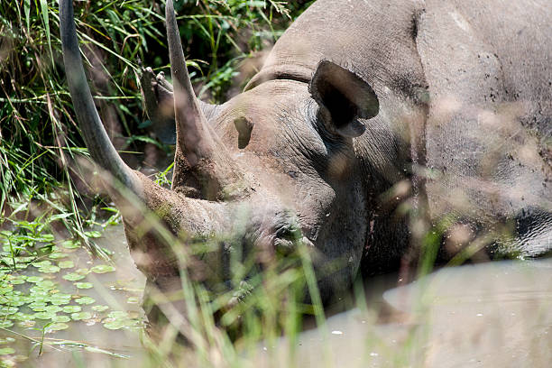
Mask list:
[[[17,340],[15,350],[17,354],[26,354],[28,359],[22,366],[41,367],[108,367],[108,366],[141,366],[143,363],[143,349],[140,342],[141,326],[139,321],[143,319],[141,298],[145,278],[136,269],[130,258],[126,241],[124,240],[123,227],[110,226],[106,229],[105,236],[97,239],[97,245],[112,251],[115,271],[103,274],[88,273],[86,281],[94,287],[87,290],[77,290],[78,294],[91,297],[96,300],[95,305],[108,306],[108,311],[120,311],[132,317],[136,326],[132,328],[107,329],[104,325],[106,314],[92,312],[94,317],[83,321],[68,322],[69,328],[54,331],[44,335],[44,344],[39,356],[39,347],[32,348],[32,341],[41,340],[41,329],[22,328],[15,326],[13,330],[22,334],[3,334]],[[97,264],[106,264],[102,260],[93,260],[82,248],[69,253],[68,257],[75,263],[73,269],[90,269]],[[62,270],[63,271],[63,270]],[[32,267],[24,270],[28,276],[48,276],[35,271]],[[70,281],[61,279],[61,272],[52,276],[51,281],[59,285],[60,290],[69,290]],[[71,305],[76,305],[71,301]],[[90,311],[92,305],[83,305],[83,311]],[[36,327],[40,323],[37,323]],[[26,336],[26,337],[23,337]],[[17,361],[15,359],[15,361]]]

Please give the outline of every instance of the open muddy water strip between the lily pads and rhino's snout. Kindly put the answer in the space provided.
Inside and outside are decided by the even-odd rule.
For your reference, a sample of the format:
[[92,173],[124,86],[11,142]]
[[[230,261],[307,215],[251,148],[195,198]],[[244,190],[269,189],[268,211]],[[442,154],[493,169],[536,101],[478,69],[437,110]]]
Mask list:
[[[85,290],[86,295],[96,299],[99,303],[108,305],[112,310],[128,312],[129,315],[143,319],[142,295],[145,284],[145,277],[138,271],[130,257],[124,229],[122,225],[110,226],[105,236],[97,240],[97,245],[113,252],[115,272],[100,275],[88,275],[87,279],[93,277],[94,288]],[[94,264],[90,256],[79,250],[79,259],[86,260],[88,266]],[[92,347],[92,351],[79,349],[61,353],[48,349],[46,354],[40,358],[41,366],[49,367],[107,367],[107,366],[140,366],[143,362],[143,350],[140,343],[140,327],[121,328],[109,330],[100,323],[83,322],[77,326],[71,325],[67,330],[60,331],[56,338],[68,341],[82,341]],[[94,348],[100,349],[94,351]],[[106,352],[120,355],[119,357]],[[78,353],[78,354],[75,354]]]

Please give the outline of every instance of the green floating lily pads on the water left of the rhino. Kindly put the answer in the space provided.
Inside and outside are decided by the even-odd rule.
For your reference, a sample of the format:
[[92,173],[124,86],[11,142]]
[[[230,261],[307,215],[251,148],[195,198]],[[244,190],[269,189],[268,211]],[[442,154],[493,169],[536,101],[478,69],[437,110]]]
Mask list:
[[[0,238],[0,246],[2,245],[2,238]],[[114,272],[115,267],[92,262],[90,268],[76,269],[78,253],[75,253],[75,250],[77,248],[77,241],[64,241],[60,244],[51,244],[48,248],[51,253],[29,256],[23,248],[19,249],[19,253],[11,253],[12,248],[2,247],[0,259],[4,261],[6,267],[0,269],[0,329],[6,332],[13,331],[14,334],[29,331],[29,335],[32,335],[33,331],[34,334],[36,334],[35,331],[40,331],[42,336],[36,337],[34,344],[41,349],[44,344],[51,344],[47,336],[67,330],[72,324],[101,322],[100,326],[105,327],[106,330],[142,326],[141,318],[137,314],[110,310],[105,302],[97,304],[96,298],[81,294],[81,290],[94,290],[103,275]],[[32,267],[23,274],[21,270],[27,266]],[[112,289],[109,288],[109,290]],[[120,292],[140,292],[140,290],[129,291],[121,288]],[[138,303],[139,298],[128,295],[124,300],[133,304]],[[17,346],[9,346],[15,343],[16,339],[13,337],[0,338],[0,355],[8,356],[8,360],[2,358],[0,363],[11,364],[10,362],[14,362],[15,357],[19,356],[14,355]],[[96,346],[85,344],[82,348],[91,353],[118,356]]]

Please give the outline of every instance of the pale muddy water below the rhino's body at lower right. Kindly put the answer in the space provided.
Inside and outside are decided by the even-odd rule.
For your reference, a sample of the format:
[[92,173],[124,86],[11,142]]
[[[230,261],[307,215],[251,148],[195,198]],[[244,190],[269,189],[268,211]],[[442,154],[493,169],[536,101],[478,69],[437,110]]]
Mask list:
[[[301,367],[550,367],[552,259],[442,269],[330,317],[294,347]],[[265,362],[290,362],[283,339],[264,350]]]

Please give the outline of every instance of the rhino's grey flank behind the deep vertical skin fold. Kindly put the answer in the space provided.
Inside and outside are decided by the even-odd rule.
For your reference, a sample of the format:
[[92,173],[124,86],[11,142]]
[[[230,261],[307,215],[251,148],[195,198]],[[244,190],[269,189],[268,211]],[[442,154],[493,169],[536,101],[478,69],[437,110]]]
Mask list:
[[454,208],[483,223],[538,216],[552,225],[552,8],[545,3],[426,2],[417,43],[431,96],[434,214]]

